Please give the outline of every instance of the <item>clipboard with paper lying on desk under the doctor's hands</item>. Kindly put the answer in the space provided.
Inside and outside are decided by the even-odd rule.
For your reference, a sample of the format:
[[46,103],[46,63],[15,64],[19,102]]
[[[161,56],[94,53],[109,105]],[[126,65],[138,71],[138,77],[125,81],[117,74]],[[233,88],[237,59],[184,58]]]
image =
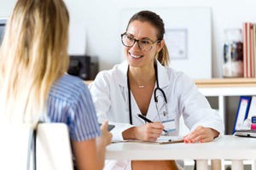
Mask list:
[[139,142],[139,143],[148,143],[148,144],[174,144],[174,143],[183,143],[183,137],[182,136],[160,136],[158,139],[156,139],[154,141],[138,140],[138,139],[112,141],[112,143],[117,143],[117,142]]

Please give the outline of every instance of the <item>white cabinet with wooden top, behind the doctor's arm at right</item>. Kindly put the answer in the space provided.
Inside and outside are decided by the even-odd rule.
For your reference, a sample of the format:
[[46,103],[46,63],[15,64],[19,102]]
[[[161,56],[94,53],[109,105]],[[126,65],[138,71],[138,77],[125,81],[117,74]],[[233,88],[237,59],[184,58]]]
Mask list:
[[225,123],[226,134],[231,133],[230,128],[235,121],[234,116],[236,116],[240,96],[256,95],[255,78],[195,80],[195,84],[213,105],[212,108],[218,109],[218,113]]

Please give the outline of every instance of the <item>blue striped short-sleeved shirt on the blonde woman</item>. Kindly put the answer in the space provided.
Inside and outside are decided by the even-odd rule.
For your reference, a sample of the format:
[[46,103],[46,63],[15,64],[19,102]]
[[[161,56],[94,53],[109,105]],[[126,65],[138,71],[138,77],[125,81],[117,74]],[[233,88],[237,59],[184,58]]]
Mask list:
[[101,135],[90,92],[78,77],[63,75],[50,89],[45,122],[64,122],[73,141]]

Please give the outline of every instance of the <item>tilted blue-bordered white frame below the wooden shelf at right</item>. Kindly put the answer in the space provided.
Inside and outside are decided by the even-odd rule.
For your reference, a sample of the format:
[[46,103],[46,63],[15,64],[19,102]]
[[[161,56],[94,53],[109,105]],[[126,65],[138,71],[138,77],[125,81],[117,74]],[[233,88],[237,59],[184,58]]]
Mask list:
[[236,121],[234,123],[233,133],[235,133],[236,130],[241,129],[241,127],[244,126],[243,122],[247,119],[247,114],[250,108],[251,99],[252,99],[251,96],[240,97],[238,108],[236,111]]

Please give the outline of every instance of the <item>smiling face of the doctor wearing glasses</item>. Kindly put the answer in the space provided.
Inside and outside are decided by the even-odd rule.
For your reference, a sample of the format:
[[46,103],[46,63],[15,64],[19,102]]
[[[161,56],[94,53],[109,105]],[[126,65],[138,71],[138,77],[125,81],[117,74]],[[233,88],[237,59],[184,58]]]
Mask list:
[[[134,20],[130,23],[127,28],[126,33],[137,39],[137,40],[146,40],[154,42],[157,40],[157,29],[152,26],[147,21]],[[127,59],[129,65],[132,67],[148,67],[153,66],[154,56],[160,51],[163,47],[162,42],[152,43],[152,48],[148,51],[145,51],[138,47],[138,43],[132,47],[125,47],[125,58]]]

